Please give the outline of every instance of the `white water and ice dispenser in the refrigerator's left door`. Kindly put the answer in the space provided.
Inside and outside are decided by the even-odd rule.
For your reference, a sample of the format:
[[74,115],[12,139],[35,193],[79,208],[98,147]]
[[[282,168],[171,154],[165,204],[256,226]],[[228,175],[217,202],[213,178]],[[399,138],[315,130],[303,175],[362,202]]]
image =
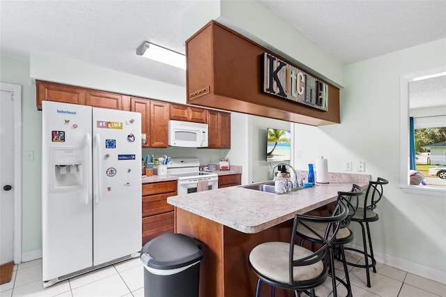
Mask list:
[[84,153],[82,148],[52,148],[50,154],[52,189],[82,187]]

